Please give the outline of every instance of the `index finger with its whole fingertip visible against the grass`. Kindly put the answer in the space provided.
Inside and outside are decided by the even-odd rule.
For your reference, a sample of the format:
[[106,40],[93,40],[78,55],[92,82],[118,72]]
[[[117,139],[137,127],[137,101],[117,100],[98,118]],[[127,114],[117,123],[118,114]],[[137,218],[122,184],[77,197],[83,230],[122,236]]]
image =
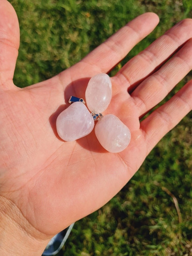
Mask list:
[[82,61],[97,72],[109,72],[126,54],[157,26],[155,13],[144,13],[117,31]]

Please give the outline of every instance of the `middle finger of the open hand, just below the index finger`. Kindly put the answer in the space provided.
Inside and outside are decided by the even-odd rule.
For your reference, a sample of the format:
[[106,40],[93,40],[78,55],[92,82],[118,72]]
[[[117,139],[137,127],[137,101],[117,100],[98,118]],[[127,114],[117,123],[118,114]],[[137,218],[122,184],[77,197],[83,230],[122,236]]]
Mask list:
[[133,91],[144,78],[154,72],[192,37],[191,26],[192,19],[182,20],[127,62],[116,75],[121,84],[126,84],[129,91]]

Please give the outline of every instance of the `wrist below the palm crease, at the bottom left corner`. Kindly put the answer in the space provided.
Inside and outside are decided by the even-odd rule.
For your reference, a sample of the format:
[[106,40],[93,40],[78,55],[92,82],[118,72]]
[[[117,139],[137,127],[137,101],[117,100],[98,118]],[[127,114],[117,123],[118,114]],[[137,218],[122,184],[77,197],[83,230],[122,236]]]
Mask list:
[[0,197],[0,255],[41,255],[50,237],[35,229],[11,201]]

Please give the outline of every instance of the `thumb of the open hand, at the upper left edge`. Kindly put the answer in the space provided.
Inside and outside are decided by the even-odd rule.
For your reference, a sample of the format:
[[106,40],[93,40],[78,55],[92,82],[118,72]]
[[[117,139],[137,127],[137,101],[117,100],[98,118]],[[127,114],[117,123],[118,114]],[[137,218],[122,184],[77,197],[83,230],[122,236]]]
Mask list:
[[19,47],[16,13],[7,0],[0,0],[0,87],[13,87],[13,74]]

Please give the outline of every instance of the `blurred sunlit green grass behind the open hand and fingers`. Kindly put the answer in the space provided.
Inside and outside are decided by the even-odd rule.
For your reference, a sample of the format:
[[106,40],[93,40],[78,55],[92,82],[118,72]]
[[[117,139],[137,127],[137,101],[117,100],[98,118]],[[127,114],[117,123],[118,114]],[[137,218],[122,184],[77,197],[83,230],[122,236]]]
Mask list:
[[[113,75],[155,38],[192,14],[190,0],[10,3],[20,23],[14,76],[19,87],[69,68],[137,15],[157,13],[158,27],[112,71]],[[175,91],[190,78],[191,73]],[[75,224],[60,255],[192,255],[191,117],[189,113],[159,142],[116,197]]]

